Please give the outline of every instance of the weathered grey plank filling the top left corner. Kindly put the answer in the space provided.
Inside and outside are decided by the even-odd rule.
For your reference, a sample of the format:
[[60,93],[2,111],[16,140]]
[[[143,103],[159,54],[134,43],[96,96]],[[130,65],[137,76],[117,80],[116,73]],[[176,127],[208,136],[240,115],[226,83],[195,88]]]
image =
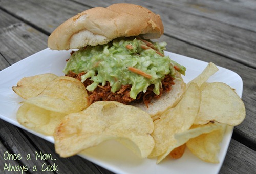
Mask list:
[[26,2],[11,0],[1,1],[0,8],[18,17],[27,24],[34,25],[38,30],[50,34],[55,28],[68,18],[77,13],[89,9],[73,1],[33,1]]

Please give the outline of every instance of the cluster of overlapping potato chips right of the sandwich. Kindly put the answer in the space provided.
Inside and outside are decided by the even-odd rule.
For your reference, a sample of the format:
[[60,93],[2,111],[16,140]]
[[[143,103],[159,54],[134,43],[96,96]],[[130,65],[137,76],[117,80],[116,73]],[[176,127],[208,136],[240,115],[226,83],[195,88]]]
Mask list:
[[152,136],[155,147],[150,157],[157,157],[157,163],[168,154],[172,156],[173,150],[174,153],[176,150],[176,156],[182,156],[184,144],[198,158],[219,162],[219,143],[225,128],[244,120],[245,106],[227,84],[206,82],[217,71],[215,64],[209,63],[198,77],[187,84],[180,102],[154,121]]

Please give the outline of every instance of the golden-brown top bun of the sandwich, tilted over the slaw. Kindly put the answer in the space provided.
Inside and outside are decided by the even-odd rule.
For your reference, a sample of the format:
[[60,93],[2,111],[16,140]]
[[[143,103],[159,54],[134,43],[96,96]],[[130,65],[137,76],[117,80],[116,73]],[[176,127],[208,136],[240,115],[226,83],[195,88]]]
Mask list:
[[159,38],[163,24],[159,15],[134,4],[113,4],[83,11],[57,27],[48,38],[52,50],[102,45],[117,37],[141,35]]

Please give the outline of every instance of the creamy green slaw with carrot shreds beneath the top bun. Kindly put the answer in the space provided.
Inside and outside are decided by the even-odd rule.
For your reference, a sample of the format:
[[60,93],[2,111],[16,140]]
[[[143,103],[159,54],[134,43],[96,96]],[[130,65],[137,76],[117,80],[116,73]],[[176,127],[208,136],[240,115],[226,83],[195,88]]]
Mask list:
[[136,99],[141,91],[154,84],[153,92],[160,93],[161,81],[165,75],[173,77],[176,71],[185,75],[186,68],[164,56],[166,42],[151,42],[139,38],[117,38],[104,45],[87,46],[73,53],[63,72],[70,71],[81,76],[81,82],[87,78],[93,83],[87,86],[93,91],[99,84],[108,81],[111,92],[116,92],[121,85],[131,84],[130,97]]

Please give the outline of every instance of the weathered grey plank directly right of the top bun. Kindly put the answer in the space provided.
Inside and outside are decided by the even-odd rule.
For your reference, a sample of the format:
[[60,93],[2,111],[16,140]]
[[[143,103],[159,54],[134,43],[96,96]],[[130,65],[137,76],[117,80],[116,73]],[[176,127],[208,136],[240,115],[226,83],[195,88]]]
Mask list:
[[[205,20],[203,17],[179,14],[175,10],[172,10],[169,17],[176,24],[165,25],[165,31],[168,35],[238,61],[246,66],[256,67],[256,59],[254,58],[255,32],[245,31],[215,20]],[[163,18],[163,20],[165,19]]]

